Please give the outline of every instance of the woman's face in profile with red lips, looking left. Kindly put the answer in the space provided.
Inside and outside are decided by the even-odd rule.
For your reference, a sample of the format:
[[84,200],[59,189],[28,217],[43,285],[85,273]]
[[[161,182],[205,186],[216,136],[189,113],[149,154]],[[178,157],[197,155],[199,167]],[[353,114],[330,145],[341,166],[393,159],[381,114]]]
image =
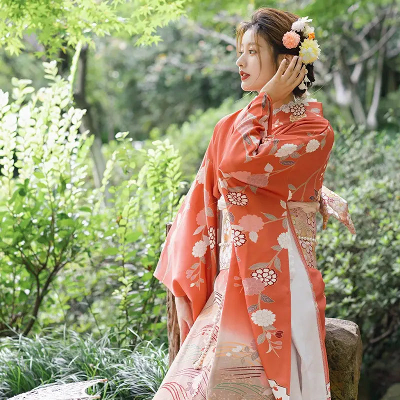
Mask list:
[[[267,42],[261,36],[258,36],[258,45],[260,52],[258,55],[261,58],[261,67],[259,66],[259,60],[257,57],[257,48],[255,46],[253,30],[247,29],[243,33],[239,49],[240,56],[236,60],[236,65],[239,67],[239,71],[242,70],[248,74],[248,76],[240,76],[241,88],[244,91],[255,90],[259,92],[262,86],[264,86],[264,84],[275,74],[277,69],[273,65],[272,54]],[[279,58],[282,59],[282,57]]]

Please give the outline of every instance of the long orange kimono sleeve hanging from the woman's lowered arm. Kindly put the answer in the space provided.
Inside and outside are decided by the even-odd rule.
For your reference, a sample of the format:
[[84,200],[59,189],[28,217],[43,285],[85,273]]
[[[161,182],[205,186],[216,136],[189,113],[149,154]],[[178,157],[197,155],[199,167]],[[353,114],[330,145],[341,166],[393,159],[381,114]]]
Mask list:
[[216,276],[217,199],[210,147],[173,220],[153,275],[174,296],[191,301],[193,321],[213,290]]

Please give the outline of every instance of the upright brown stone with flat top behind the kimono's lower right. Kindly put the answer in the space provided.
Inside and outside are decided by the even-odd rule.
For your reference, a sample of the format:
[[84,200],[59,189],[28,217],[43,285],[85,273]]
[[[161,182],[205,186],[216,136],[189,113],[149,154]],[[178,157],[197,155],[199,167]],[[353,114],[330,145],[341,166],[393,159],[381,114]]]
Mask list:
[[326,318],[326,353],[332,400],[357,400],[362,342],[357,324]]

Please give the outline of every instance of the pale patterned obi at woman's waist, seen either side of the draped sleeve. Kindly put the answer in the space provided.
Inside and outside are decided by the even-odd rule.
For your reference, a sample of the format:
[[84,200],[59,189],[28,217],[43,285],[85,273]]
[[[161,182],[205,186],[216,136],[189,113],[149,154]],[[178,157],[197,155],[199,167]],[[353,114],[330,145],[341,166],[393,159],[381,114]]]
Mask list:
[[[301,245],[305,261],[309,267],[316,267],[315,246],[317,244],[315,212],[319,210],[318,201],[287,201],[290,209],[290,216],[293,222],[298,241]],[[226,203],[221,196],[218,199],[219,230],[218,245],[219,248],[219,270],[228,269],[230,255],[232,251],[232,229],[230,227],[229,215]]]

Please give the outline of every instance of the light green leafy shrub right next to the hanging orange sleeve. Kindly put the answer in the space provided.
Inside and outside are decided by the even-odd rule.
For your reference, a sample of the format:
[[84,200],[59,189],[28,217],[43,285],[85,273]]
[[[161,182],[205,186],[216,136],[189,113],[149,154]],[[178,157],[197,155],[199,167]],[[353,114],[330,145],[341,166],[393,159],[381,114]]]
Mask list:
[[[112,292],[119,313],[117,321],[111,320],[110,325],[116,323],[117,329],[125,332],[121,341],[130,336],[134,343],[136,337],[129,335],[129,326],[135,326],[143,338],[155,338],[165,327],[165,290],[152,271],[165,238],[165,223],[173,218],[182,200],[177,193],[183,182],[180,156],[167,139],[153,141],[153,148],[135,150],[126,135],[123,132],[117,137],[120,144],[107,161],[99,193],[95,190],[94,196],[99,200],[94,211],[105,226],[101,232],[105,242],[98,241],[99,252],[113,257],[107,265],[108,276],[120,282]],[[145,162],[135,177],[132,169],[137,153]],[[115,179],[115,172],[120,175],[118,182],[108,185],[112,175]],[[107,185],[112,193],[110,206],[101,210]]]

